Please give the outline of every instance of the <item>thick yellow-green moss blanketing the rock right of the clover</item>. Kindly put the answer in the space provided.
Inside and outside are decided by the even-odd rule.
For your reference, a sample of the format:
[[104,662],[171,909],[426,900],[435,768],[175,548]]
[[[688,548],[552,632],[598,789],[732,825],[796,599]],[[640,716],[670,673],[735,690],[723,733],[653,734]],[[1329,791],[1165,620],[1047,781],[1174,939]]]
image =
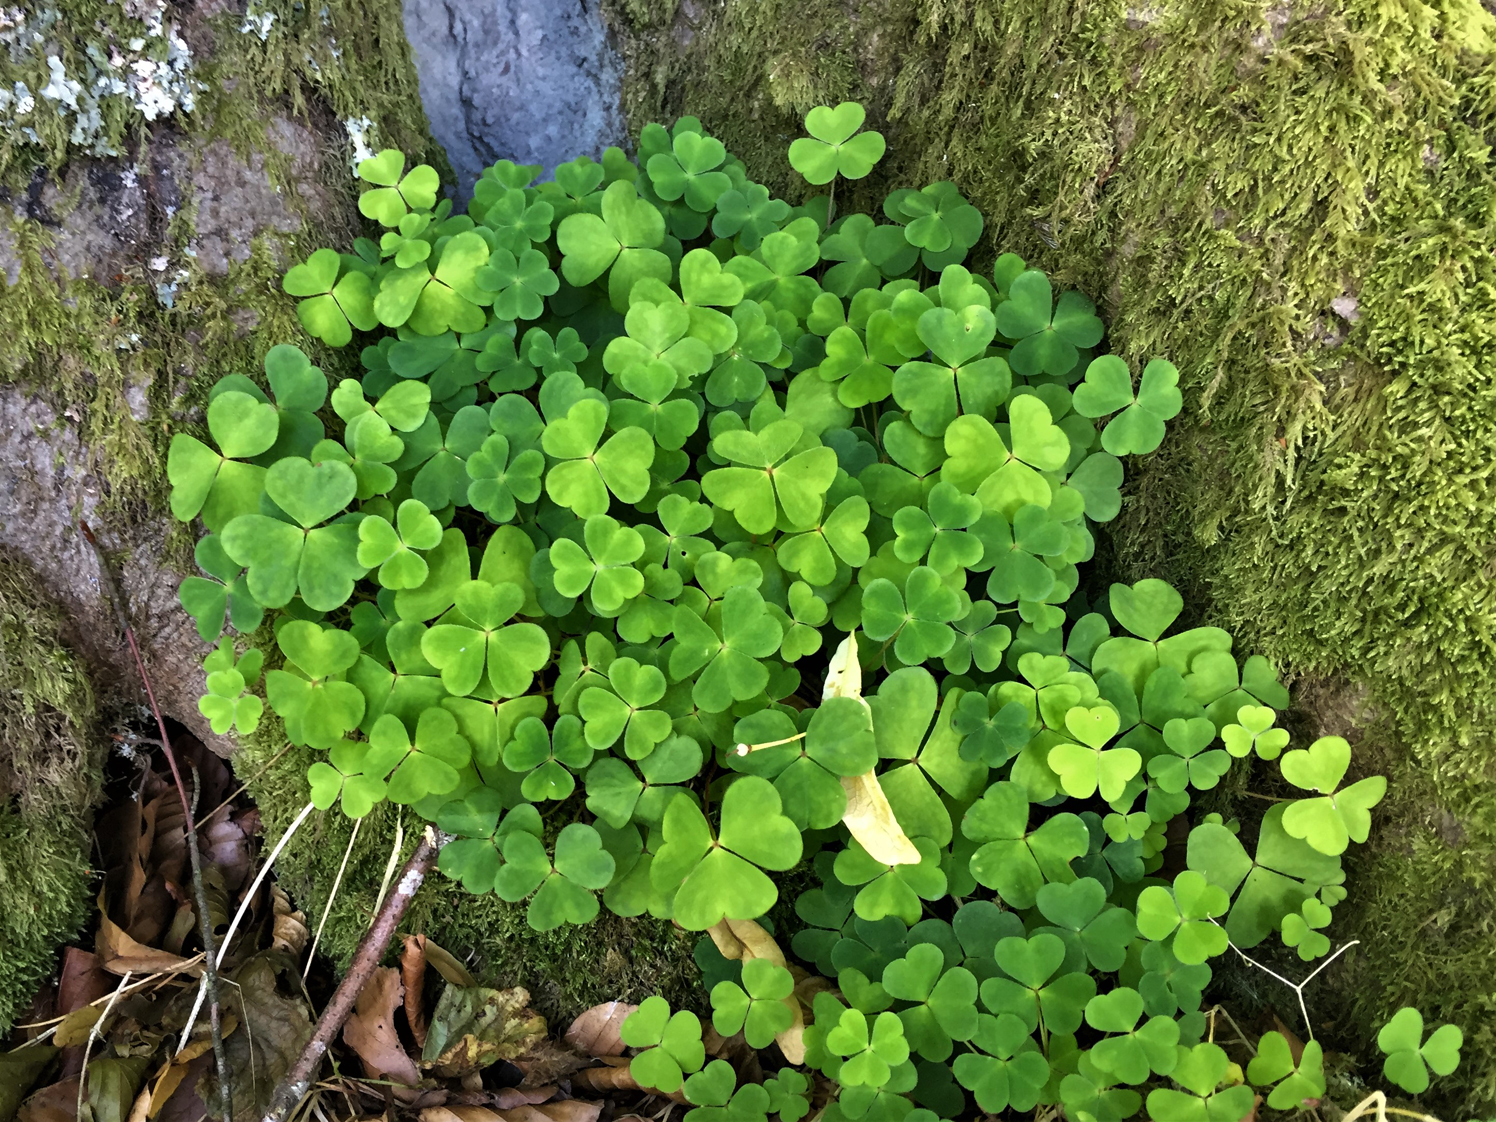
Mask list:
[[1366,942],[1322,1008],[1351,1001],[1348,1049],[1403,1002],[1460,1023],[1445,1106],[1496,1104],[1492,16],[732,0],[690,36],[613,19],[636,127],[696,114],[796,194],[799,114],[857,97],[892,160],[857,202],[956,181],[987,217],[978,260],[1016,250],[1101,299],[1113,350],[1180,367],[1186,416],[1134,468],[1109,564],[1275,658],[1309,727],[1345,727],[1318,682],[1366,691],[1361,763],[1393,787],[1337,914]]

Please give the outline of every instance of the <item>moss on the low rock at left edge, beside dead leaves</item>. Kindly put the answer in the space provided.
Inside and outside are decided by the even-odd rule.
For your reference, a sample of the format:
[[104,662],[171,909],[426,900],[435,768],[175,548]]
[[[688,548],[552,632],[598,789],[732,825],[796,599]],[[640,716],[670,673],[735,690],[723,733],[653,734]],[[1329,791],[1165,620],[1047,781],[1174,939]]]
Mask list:
[[88,914],[102,751],[88,681],[36,574],[0,551],[0,1034]]

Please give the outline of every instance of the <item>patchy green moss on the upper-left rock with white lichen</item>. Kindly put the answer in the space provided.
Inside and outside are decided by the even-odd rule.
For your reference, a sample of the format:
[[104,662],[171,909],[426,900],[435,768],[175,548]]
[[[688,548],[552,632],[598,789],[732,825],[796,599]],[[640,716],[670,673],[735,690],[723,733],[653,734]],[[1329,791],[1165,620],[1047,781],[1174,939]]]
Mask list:
[[[266,133],[268,123],[283,117],[343,135],[346,118],[368,118],[371,142],[446,166],[420,109],[395,0],[331,0],[316,7],[287,0],[259,7],[275,15],[263,42],[239,30],[242,15],[235,12],[187,30],[193,43],[211,42],[212,51],[194,58],[203,90],[193,112],[175,115],[169,142],[187,151],[190,162],[214,141],[226,141],[241,159],[257,156],[263,174],[304,217],[302,230],[257,235],[247,260],[232,263],[224,277],[209,277],[187,253],[196,235],[196,203],[188,191],[153,248],[174,265],[188,263],[168,308],[157,298],[156,274],[127,265],[123,274],[102,278],[105,283],[67,277],[51,263],[55,238],[49,226],[6,215],[9,236],[0,241],[7,242],[16,268],[13,283],[0,281],[0,332],[7,340],[0,381],[45,395],[60,416],[73,419],[94,459],[91,467],[109,480],[106,503],[114,509],[165,504],[171,422],[200,405],[212,380],[233,371],[256,374],[277,343],[310,343],[296,322],[295,301],[280,292],[280,277],[298,247],[344,244],[362,232],[355,229],[356,184],[346,165],[335,154],[325,159],[326,181],[314,184],[325,199],[344,205],[313,211],[305,191],[298,190],[307,184],[287,174],[290,156]],[[69,73],[81,73],[90,45],[124,42],[141,31],[118,4],[69,0],[49,15],[45,7],[37,10],[49,21],[46,43],[0,58],[0,85],[6,88],[24,79],[39,90],[48,52],[57,52]],[[139,166],[150,166],[144,118],[133,109],[121,111],[120,99],[105,100],[108,112],[96,147],[130,153]],[[57,109],[58,103],[37,99],[33,124],[42,144],[0,138],[0,181],[34,190],[79,156]],[[60,203],[51,218],[64,217],[72,203],[76,199]],[[341,352],[323,350],[317,358],[334,377],[358,362],[356,355]],[[163,371],[178,378],[162,377]],[[181,374],[193,377],[181,381]],[[145,417],[138,419],[142,387]]]

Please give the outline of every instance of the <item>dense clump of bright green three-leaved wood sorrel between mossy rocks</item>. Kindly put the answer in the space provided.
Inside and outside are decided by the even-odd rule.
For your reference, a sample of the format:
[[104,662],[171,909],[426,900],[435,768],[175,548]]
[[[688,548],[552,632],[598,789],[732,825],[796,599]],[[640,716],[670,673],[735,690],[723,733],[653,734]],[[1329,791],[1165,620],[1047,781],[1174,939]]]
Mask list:
[[[862,124],[815,109],[791,163],[865,177]],[[601,904],[712,932],[715,1026],[791,1064],[739,1088],[646,1001],[634,1076],[700,1122],[797,1122],[802,1064],[839,1085],[829,1122],[1249,1113],[1209,963],[1275,934],[1328,953],[1385,782],[1342,787],[1337,738],[1284,752],[1273,669],[1177,628],[1167,583],[1077,592],[1177,371],[1097,353],[1091,301],[1013,254],[972,274],[981,215],[948,183],[887,221],[790,206],[694,118],[637,163],[539,171],[500,162],[453,215],[431,168],[367,160],[378,242],[284,283],[311,335],[359,335],[364,377],[329,393],[278,346],[268,392],[214,386],[212,444],[172,441],[172,510],[208,531],[183,603],[205,639],[271,618],[265,697],[325,752],[311,800],[411,806],[458,836],[447,875],[537,929]],[[253,729],[257,654],[224,636],[208,669],[214,729]],[[1192,820],[1159,877],[1191,793],[1254,754],[1310,797],[1251,847]],[[803,860],[820,990],[751,923]],[[1414,1089],[1459,1029],[1408,1023],[1384,1043]],[[1297,1107],[1322,1053],[1269,1034],[1246,1079]]]

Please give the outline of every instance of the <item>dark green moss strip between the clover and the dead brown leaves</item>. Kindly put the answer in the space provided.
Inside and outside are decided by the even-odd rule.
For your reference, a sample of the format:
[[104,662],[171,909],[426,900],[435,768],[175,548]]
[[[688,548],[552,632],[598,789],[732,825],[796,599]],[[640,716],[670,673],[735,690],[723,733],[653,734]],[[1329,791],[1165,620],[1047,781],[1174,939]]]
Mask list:
[[[268,736],[260,738],[260,744],[238,757],[239,773],[265,770],[280,748]],[[292,748],[251,784],[269,838],[278,836],[305,805],[307,764],[317,757],[320,752]],[[353,956],[374,916],[398,821],[404,826],[402,863],[414,850],[423,821],[408,809],[381,803],[359,827],[322,936],[322,950],[340,968]],[[280,884],[307,913],[313,931],[349,853],[352,832],[353,823],[340,811],[314,812],[277,863]],[[485,981],[525,986],[534,1007],[552,1025],[564,1026],[603,1001],[639,1001],[651,993],[664,993],[676,1005],[705,1004],[700,971],[691,959],[699,936],[648,916],[622,919],[604,908],[583,928],[537,932],[525,922],[522,904],[506,904],[492,893],[471,896],[435,872],[411,901],[401,931],[435,939]],[[398,944],[390,954],[398,954]]]

